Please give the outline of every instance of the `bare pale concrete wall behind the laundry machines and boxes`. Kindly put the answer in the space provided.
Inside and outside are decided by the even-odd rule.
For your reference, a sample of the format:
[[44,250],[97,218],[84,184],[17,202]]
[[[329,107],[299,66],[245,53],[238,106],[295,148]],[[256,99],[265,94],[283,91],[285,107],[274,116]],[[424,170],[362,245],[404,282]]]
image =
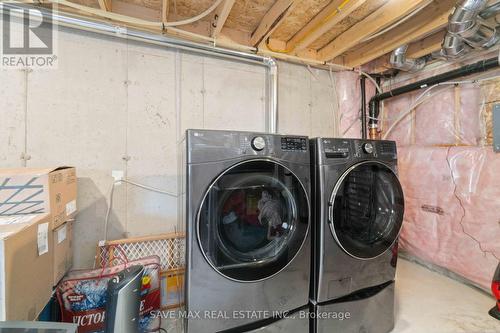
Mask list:
[[[57,69],[0,71],[0,167],[77,168],[75,267],[103,239],[112,173],[177,193],[185,129],[265,129],[262,66],[66,29],[57,56]],[[279,132],[336,134],[336,76],[279,63]],[[176,197],[116,186],[108,239],[176,225]]]

